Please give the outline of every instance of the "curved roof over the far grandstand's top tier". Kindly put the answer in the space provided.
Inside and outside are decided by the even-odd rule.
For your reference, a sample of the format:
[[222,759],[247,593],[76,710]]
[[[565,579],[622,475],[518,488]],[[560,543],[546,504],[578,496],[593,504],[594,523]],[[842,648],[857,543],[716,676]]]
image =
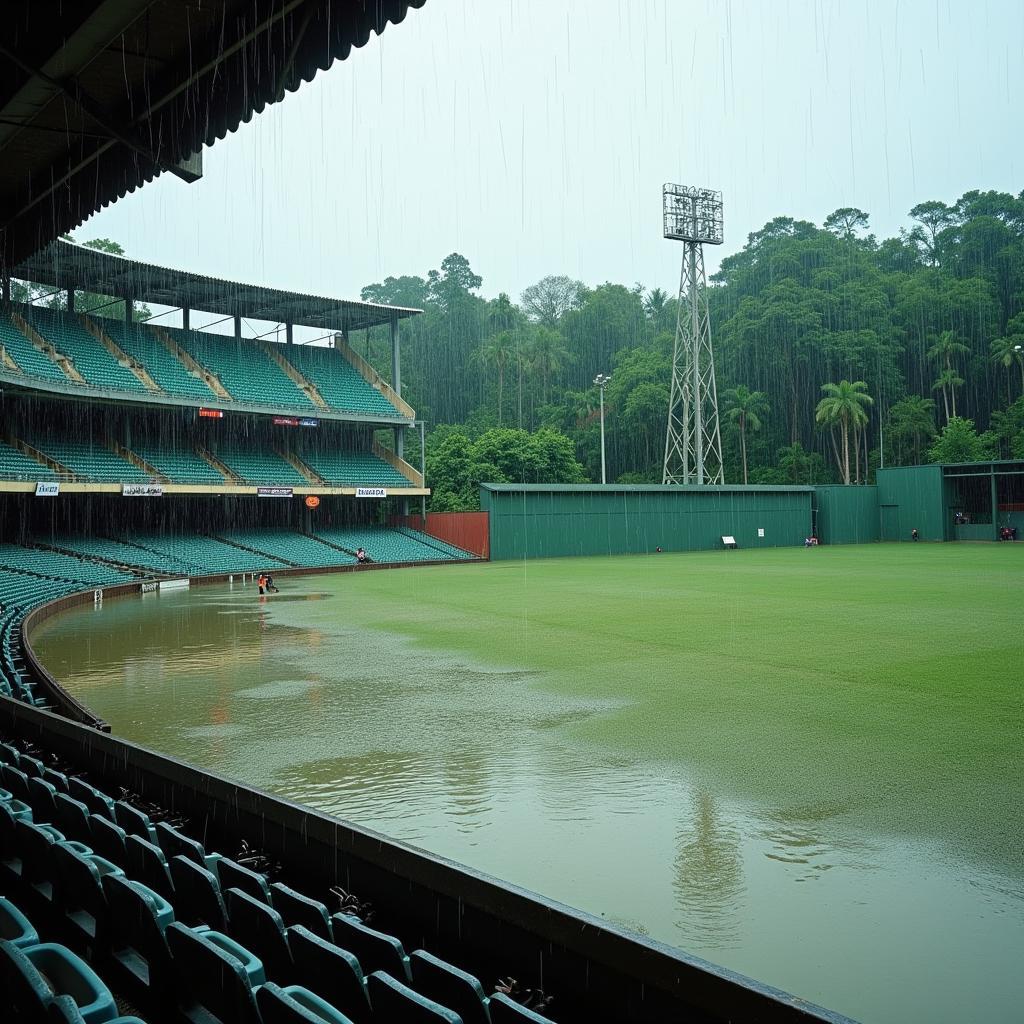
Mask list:
[[188,270],[140,263],[71,242],[51,243],[14,267],[12,276],[55,289],[72,288],[136,302],[184,306],[225,316],[297,324],[344,334],[391,324],[423,311],[207,278]]

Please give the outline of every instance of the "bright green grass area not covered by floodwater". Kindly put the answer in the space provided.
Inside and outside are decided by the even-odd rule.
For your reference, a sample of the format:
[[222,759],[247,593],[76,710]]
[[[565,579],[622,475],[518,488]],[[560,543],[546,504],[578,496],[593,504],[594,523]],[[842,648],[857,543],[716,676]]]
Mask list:
[[378,572],[352,589],[368,625],[623,701],[568,726],[582,741],[1020,870],[1022,583],[1024,544],[904,544]]

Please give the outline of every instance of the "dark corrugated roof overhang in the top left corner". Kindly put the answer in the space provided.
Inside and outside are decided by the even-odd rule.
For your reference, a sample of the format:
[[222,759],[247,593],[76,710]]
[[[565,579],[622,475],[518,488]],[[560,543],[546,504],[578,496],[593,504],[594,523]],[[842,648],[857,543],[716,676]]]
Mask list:
[[0,271],[425,0],[25,0],[0,38]]

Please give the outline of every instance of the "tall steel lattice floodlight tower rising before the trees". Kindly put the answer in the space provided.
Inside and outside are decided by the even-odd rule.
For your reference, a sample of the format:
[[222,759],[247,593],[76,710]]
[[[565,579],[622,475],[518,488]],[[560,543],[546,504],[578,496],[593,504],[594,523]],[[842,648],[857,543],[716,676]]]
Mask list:
[[722,194],[666,184],[663,204],[665,237],[682,242],[686,248],[679,276],[662,482],[722,483],[722,435],[703,266],[703,244],[722,244]]

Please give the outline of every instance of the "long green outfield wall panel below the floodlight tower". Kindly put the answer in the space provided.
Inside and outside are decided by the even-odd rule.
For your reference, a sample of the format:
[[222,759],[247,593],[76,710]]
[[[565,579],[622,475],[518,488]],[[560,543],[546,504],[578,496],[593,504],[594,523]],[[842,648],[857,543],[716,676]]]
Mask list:
[[[490,558],[556,558],[801,545],[813,487],[480,484]],[[763,536],[759,534],[763,530]]]

